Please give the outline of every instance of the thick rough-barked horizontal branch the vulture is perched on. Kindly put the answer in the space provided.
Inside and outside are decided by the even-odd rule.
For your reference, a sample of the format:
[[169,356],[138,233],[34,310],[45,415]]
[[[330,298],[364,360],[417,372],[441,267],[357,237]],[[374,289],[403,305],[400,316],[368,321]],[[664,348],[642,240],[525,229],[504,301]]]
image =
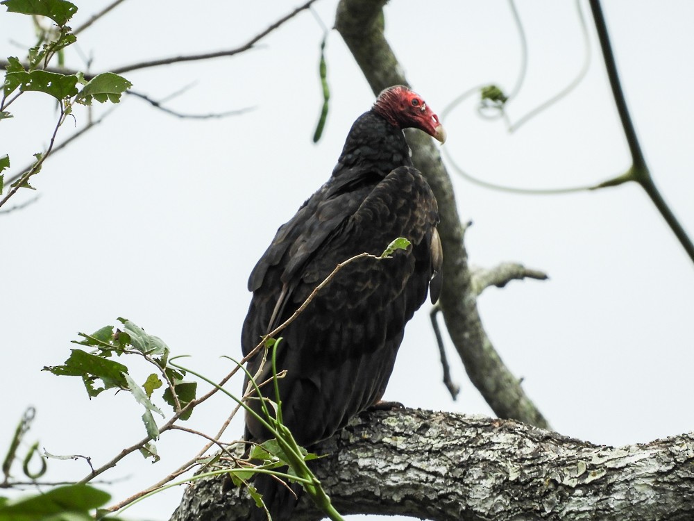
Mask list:
[[[405,409],[364,413],[316,452],[329,454],[313,466],[343,515],[694,518],[694,433],[606,447],[512,420]],[[247,519],[251,500],[239,490],[223,493],[222,481],[194,484],[171,520]],[[321,518],[302,500],[293,519]]]

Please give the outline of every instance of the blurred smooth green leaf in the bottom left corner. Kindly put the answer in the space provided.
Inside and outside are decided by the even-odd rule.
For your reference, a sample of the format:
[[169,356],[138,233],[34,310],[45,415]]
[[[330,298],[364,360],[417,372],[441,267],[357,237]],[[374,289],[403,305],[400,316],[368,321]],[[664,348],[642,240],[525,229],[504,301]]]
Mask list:
[[92,508],[105,504],[110,498],[108,493],[89,485],[62,486],[0,504],[0,521],[69,519],[53,516],[64,513],[87,515]]

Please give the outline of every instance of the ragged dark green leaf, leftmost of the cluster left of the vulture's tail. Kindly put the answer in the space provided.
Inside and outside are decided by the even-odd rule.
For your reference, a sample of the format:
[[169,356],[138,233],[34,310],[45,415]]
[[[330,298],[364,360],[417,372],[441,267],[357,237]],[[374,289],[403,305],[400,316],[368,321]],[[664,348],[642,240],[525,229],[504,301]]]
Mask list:
[[[71,349],[72,354],[65,361],[65,365],[53,365],[44,367],[42,371],[67,377],[82,377],[90,397],[99,395],[100,392],[110,388],[129,389],[126,374],[128,367],[125,365],[84,352],[82,349]],[[103,388],[94,388],[94,381],[100,379]]]

